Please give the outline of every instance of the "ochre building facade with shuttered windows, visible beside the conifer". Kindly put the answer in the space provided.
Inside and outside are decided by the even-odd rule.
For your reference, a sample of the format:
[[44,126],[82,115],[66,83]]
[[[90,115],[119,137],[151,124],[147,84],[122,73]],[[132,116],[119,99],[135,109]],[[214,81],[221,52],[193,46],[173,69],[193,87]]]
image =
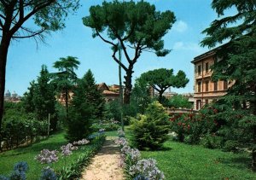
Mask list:
[[194,64],[194,109],[201,109],[208,103],[218,101],[230,87],[229,82],[212,82],[211,67],[215,61],[215,49],[198,55],[191,61]]

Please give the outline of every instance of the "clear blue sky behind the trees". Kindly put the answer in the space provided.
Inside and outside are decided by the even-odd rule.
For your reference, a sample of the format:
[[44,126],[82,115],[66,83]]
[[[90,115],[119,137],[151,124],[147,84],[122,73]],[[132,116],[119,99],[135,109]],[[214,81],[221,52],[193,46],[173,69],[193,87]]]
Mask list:
[[[134,79],[141,73],[155,68],[173,68],[174,73],[183,70],[189,77],[189,84],[183,89],[172,89],[178,93],[193,92],[193,71],[190,63],[197,55],[206,52],[207,48],[199,43],[205,37],[201,32],[217,18],[211,8],[211,0],[148,0],[154,3],[157,10],[170,9],[176,15],[177,21],[166,34],[165,48],[172,52],[165,57],[157,57],[144,52],[135,64]],[[29,82],[38,77],[41,66],[45,64],[49,72],[55,72],[52,67],[60,57],[67,55],[78,57],[81,65],[76,72],[81,78],[91,69],[96,83],[119,84],[118,64],[111,55],[108,44],[100,38],[92,38],[91,29],[82,23],[82,17],[89,15],[91,5],[101,4],[100,0],[81,0],[82,7],[76,15],[69,15],[66,28],[61,32],[52,32],[45,39],[46,44],[37,44],[33,39],[13,41],[9,48],[6,88],[14,90],[22,96]],[[123,58],[125,61],[125,57]],[[124,75],[124,72],[123,72]]]

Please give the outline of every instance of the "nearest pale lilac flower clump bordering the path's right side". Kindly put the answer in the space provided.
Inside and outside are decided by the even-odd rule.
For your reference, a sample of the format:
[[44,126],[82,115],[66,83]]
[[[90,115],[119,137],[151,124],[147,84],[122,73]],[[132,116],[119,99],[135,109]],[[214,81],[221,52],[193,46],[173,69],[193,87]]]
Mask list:
[[154,159],[139,160],[136,165],[131,165],[129,171],[131,176],[141,174],[148,179],[161,180],[165,178],[163,172],[157,168],[156,161]]

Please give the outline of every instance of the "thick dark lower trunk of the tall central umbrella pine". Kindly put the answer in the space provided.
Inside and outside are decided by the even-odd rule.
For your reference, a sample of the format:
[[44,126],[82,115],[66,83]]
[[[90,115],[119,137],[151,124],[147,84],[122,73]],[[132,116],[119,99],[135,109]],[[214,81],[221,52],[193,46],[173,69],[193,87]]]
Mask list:
[[124,93],[124,104],[130,104],[130,97],[131,97],[131,88],[132,88],[132,84],[131,84],[131,78],[132,78],[132,68],[133,65],[129,65],[129,68],[126,71],[126,75],[125,75],[125,93]]

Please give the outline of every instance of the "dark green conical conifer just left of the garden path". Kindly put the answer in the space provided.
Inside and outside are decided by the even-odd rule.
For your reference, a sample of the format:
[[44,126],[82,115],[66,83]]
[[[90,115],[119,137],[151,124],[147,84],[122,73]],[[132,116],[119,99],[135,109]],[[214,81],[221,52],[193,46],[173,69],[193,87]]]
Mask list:
[[97,90],[89,70],[78,80],[73,90],[73,100],[67,119],[67,139],[72,142],[89,136],[93,120],[102,116],[103,105],[104,99]]

